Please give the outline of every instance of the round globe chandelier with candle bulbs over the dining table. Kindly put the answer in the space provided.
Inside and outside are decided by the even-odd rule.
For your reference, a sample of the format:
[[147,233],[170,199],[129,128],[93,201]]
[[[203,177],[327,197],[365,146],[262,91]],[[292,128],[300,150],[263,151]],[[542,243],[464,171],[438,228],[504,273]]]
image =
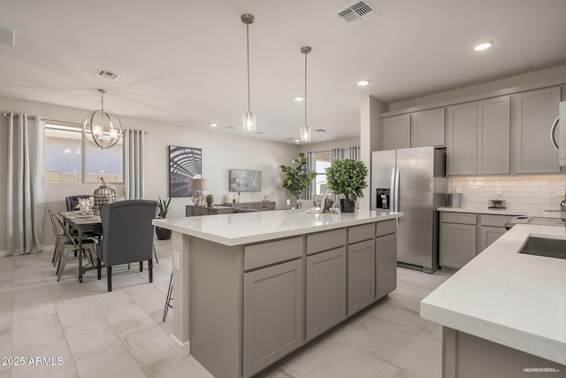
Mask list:
[[101,150],[109,149],[120,140],[122,124],[116,114],[104,110],[105,89],[98,89],[101,93],[101,109],[89,113],[82,120],[82,135],[85,140]]

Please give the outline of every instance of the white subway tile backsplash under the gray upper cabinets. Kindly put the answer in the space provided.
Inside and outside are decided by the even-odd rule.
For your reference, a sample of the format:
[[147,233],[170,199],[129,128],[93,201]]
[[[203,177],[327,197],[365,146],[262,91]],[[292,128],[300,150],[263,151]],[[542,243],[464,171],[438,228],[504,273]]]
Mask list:
[[[566,174],[528,176],[452,177],[452,190],[462,189],[461,207],[486,209],[489,199],[504,199],[507,210],[543,212],[560,209],[563,196],[557,190],[566,188]],[[449,184],[448,184],[449,188]],[[496,189],[501,188],[501,196]]]

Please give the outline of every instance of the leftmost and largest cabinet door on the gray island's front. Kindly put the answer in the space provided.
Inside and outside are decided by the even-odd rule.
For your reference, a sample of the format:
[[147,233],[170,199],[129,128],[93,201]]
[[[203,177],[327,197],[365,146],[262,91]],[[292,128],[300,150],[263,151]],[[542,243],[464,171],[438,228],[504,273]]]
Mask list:
[[244,377],[304,343],[302,282],[301,258],[244,274]]

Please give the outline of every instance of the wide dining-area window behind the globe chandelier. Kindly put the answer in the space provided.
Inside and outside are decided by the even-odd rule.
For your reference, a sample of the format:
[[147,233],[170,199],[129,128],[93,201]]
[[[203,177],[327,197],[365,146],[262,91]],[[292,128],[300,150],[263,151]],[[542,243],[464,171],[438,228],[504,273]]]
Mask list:
[[79,125],[46,123],[45,182],[124,182],[124,146],[100,150],[84,143]]

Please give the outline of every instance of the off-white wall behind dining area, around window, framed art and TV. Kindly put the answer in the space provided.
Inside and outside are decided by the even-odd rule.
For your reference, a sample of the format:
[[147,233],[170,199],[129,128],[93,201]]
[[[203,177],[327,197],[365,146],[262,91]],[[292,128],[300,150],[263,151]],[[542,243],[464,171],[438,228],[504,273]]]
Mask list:
[[[0,96],[1,112],[24,112],[39,115],[48,120],[60,120],[80,123],[82,118],[92,110],[82,110],[44,104],[34,101]],[[228,191],[228,171],[230,169],[254,169],[262,171],[263,187],[270,189],[270,200],[276,201],[278,207],[285,207],[288,192],[281,188],[283,174],[279,166],[288,163],[297,155],[298,147],[294,144],[266,142],[233,134],[222,134],[213,130],[207,131],[194,127],[163,125],[147,120],[122,118],[123,127],[143,129],[148,132],[146,139],[146,198],[157,199],[157,196],[168,195],[169,156],[168,146],[195,147],[203,149],[203,178],[208,181],[206,193],[212,193],[215,202],[221,202]],[[0,117],[0,255],[6,249],[6,167],[8,120]],[[123,186],[113,186],[118,196],[122,196]],[[92,193],[97,188],[93,184],[46,184],[46,208],[54,211],[65,210],[65,197],[73,194]],[[241,201],[261,200],[261,192],[241,193]],[[187,197],[172,199],[169,217],[184,217],[185,205],[191,204]],[[46,213],[46,217],[48,214]],[[50,220],[45,219],[43,228],[45,245],[54,244],[53,230]]]

